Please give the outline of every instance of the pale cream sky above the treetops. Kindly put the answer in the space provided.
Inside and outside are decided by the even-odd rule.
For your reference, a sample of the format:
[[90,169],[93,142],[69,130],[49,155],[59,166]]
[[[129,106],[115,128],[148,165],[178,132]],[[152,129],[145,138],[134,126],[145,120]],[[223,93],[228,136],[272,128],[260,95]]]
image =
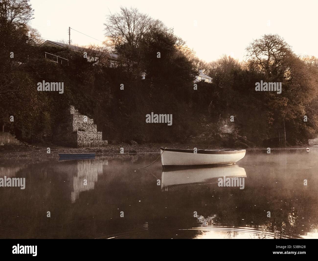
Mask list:
[[[103,41],[106,15],[119,12],[120,6],[133,6],[174,27],[175,34],[206,62],[222,54],[243,60],[246,46],[266,33],[278,33],[296,54],[318,57],[318,0],[31,0],[31,4],[30,25],[55,41],[68,41],[69,26]],[[101,44],[73,30],[71,40],[78,45]]]

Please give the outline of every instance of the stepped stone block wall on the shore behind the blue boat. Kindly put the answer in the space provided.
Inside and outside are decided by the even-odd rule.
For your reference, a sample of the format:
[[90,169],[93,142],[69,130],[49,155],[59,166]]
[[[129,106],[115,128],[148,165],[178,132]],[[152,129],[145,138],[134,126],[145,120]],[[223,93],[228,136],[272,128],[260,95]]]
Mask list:
[[67,147],[100,147],[107,145],[102,133],[97,131],[94,120],[70,106],[55,130],[53,142]]

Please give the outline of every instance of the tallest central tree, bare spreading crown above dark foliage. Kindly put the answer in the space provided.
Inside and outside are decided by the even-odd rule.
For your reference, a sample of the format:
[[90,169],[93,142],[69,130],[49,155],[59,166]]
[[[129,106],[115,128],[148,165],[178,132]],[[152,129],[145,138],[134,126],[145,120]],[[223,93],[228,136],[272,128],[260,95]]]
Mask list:
[[[120,13],[107,16],[105,26],[108,47],[120,57],[119,84],[128,86],[114,92],[114,106],[121,116],[117,119],[125,119],[122,124],[132,127],[126,135],[135,133],[137,141],[183,139],[190,122],[189,94],[197,75],[189,59],[192,51],[162,21],[134,8],[122,7]],[[143,72],[146,79],[141,81]],[[145,124],[147,113],[167,110],[176,115],[172,127]]]

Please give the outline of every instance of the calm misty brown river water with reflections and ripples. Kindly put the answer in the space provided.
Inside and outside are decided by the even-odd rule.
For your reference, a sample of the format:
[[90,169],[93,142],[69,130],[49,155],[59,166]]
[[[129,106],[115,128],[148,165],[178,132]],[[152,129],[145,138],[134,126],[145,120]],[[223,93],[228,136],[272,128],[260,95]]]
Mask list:
[[[318,238],[316,152],[250,150],[233,166],[165,170],[160,159],[138,170],[159,154],[0,158],[0,178],[26,183],[0,187],[0,237]],[[219,187],[223,176],[244,189]]]

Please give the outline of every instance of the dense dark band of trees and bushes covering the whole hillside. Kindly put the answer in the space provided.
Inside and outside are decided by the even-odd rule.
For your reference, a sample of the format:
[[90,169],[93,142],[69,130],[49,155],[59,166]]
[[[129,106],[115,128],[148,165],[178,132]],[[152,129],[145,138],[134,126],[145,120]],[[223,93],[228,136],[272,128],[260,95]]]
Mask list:
[[[28,0],[1,1],[0,123],[19,139],[52,139],[68,105],[92,117],[104,139],[117,142],[184,142],[200,134],[202,117],[214,133],[231,115],[239,135],[258,145],[274,140],[284,123],[290,144],[317,132],[318,61],[298,57],[278,35],[253,41],[246,62],[224,55],[206,63],[161,21],[122,8],[105,23],[107,50],[119,55],[114,64],[106,48],[89,47],[86,59],[82,52],[39,47],[26,24],[32,14]],[[69,64],[45,59],[45,51]],[[213,82],[199,82],[194,90],[198,69]],[[64,82],[64,93],[37,91],[43,80]],[[281,94],[255,91],[261,80],[281,82]],[[172,114],[172,126],[146,123],[151,112]]]

